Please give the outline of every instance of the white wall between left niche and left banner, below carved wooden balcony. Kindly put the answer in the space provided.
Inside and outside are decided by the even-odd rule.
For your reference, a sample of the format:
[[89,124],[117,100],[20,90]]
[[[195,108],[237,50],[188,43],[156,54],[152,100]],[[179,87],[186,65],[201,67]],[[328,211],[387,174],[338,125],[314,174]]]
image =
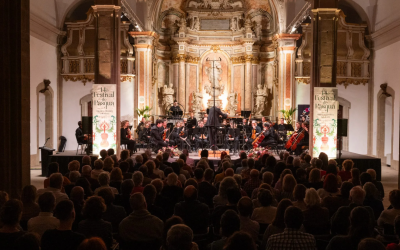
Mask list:
[[75,130],[78,128],[78,121],[81,120],[80,99],[90,94],[92,83],[64,81],[62,89],[62,135],[67,138],[65,150],[76,150],[77,142]]

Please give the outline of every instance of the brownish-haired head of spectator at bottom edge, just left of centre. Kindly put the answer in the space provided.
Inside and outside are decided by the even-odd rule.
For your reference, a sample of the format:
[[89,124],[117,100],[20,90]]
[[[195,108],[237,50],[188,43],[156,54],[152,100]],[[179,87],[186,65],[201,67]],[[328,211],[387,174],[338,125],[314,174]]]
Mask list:
[[191,250],[193,231],[186,225],[174,225],[167,233],[168,250]]

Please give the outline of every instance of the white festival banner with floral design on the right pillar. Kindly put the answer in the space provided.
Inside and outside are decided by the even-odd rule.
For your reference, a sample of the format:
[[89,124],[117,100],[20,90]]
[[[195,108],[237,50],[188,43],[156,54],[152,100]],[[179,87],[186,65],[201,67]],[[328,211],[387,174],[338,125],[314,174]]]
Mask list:
[[312,157],[324,152],[328,158],[336,158],[337,94],[337,88],[314,88]]

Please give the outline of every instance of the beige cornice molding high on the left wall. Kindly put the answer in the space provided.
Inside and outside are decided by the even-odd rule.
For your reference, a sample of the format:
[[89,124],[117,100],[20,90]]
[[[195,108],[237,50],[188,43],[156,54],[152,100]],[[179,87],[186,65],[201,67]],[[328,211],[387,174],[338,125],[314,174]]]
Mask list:
[[65,36],[65,31],[30,13],[30,35],[52,46],[58,45],[58,37]]

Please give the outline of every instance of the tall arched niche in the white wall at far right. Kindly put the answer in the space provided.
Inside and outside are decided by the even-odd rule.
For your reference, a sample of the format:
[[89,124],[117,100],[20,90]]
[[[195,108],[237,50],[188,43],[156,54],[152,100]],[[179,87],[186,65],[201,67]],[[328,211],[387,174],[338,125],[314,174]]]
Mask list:
[[376,154],[381,158],[383,164],[388,165],[393,162],[394,102],[395,92],[391,87],[387,86],[385,92],[379,90],[377,95]]

